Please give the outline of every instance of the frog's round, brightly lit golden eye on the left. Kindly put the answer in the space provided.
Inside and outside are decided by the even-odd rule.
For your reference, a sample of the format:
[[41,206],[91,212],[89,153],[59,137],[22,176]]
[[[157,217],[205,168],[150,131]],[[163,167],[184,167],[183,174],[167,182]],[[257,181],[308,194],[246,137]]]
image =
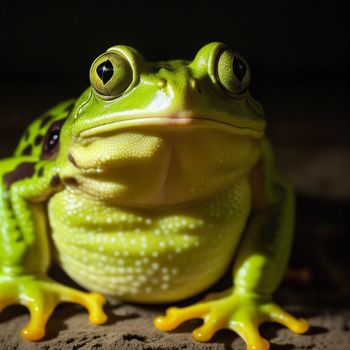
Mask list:
[[122,94],[131,84],[132,78],[133,72],[129,61],[118,53],[102,54],[90,69],[92,87],[107,99]]

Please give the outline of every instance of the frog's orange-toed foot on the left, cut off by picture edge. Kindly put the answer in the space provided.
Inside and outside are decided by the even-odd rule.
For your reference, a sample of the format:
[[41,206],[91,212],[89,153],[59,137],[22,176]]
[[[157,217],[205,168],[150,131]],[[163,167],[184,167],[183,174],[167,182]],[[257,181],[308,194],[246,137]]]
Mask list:
[[46,277],[0,279],[0,311],[6,306],[21,304],[30,312],[30,322],[21,331],[22,337],[27,340],[36,341],[45,336],[46,323],[55,307],[62,302],[84,306],[94,324],[102,324],[107,320],[103,312],[105,299],[101,294],[82,292]]

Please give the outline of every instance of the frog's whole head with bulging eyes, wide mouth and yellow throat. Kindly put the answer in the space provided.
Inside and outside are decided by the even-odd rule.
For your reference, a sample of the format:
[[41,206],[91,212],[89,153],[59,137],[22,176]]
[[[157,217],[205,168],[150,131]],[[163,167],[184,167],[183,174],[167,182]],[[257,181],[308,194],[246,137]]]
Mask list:
[[180,204],[224,191],[259,157],[265,120],[250,70],[222,43],[191,62],[114,46],[90,81],[62,130],[68,185],[123,205]]

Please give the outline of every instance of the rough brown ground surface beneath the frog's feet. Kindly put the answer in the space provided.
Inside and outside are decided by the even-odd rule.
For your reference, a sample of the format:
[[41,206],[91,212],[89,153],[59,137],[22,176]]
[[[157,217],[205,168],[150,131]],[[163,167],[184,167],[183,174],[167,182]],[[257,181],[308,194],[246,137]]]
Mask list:
[[[271,342],[271,349],[349,349],[350,311],[336,309],[296,309],[308,316],[311,324],[305,335],[296,335],[275,325],[262,327],[262,335]],[[159,311],[158,311],[159,312]],[[0,323],[0,348],[6,350],[244,350],[243,341],[229,331],[220,331],[210,343],[200,344],[191,339],[191,330],[198,324],[189,321],[172,333],[162,333],[152,326],[158,313],[153,308],[118,304],[108,306],[110,320],[107,325],[93,326],[87,315],[74,306],[61,306],[48,325],[46,340],[29,343],[19,336],[28,322],[21,308],[4,312]]]

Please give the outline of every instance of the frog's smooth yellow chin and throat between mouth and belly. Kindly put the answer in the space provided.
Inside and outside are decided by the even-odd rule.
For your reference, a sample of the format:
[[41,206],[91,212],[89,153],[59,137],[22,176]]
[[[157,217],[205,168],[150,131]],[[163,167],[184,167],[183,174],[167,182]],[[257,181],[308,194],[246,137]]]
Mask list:
[[122,206],[173,206],[212,198],[246,176],[260,150],[259,138],[232,134],[227,125],[216,124],[138,124],[74,143],[62,179]]

